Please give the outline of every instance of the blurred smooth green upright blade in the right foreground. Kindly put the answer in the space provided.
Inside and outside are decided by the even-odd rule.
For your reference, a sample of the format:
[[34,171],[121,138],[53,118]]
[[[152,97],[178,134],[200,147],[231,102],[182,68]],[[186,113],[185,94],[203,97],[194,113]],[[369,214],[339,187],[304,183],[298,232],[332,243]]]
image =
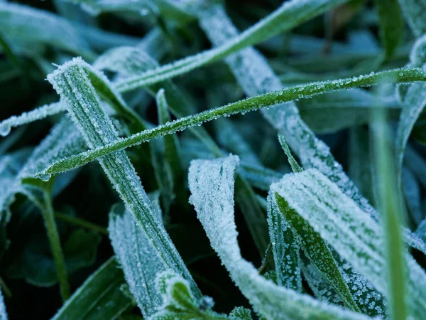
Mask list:
[[[383,235],[388,280],[388,308],[391,319],[407,319],[407,250],[402,240],[403,203],[398,193],[398,183],[393,166],[391,134],[386,124],[386,114],[373,113],[373,150],[376,164],[378,198],[383,218]],[[426,274],[424,275],[426,279]],[[418,285],[417,283],[415,285]]]

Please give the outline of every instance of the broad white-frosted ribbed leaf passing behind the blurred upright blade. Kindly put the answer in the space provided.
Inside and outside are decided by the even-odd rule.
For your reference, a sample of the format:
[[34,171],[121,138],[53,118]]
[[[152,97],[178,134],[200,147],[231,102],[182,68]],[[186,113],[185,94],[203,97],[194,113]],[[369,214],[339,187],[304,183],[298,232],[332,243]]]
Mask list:
[[[356,203],[315,169],[284,176],[271,189],[283,196],[291,208],[309,221],[312,228],[334,247],[344,260],[351,262],[371,284],[386,294],[386,259],[383,229]],[[303,198],[304,201],[300,201]],[[426,274],[410,255],[408,295],[413,316],[425,313]]]

